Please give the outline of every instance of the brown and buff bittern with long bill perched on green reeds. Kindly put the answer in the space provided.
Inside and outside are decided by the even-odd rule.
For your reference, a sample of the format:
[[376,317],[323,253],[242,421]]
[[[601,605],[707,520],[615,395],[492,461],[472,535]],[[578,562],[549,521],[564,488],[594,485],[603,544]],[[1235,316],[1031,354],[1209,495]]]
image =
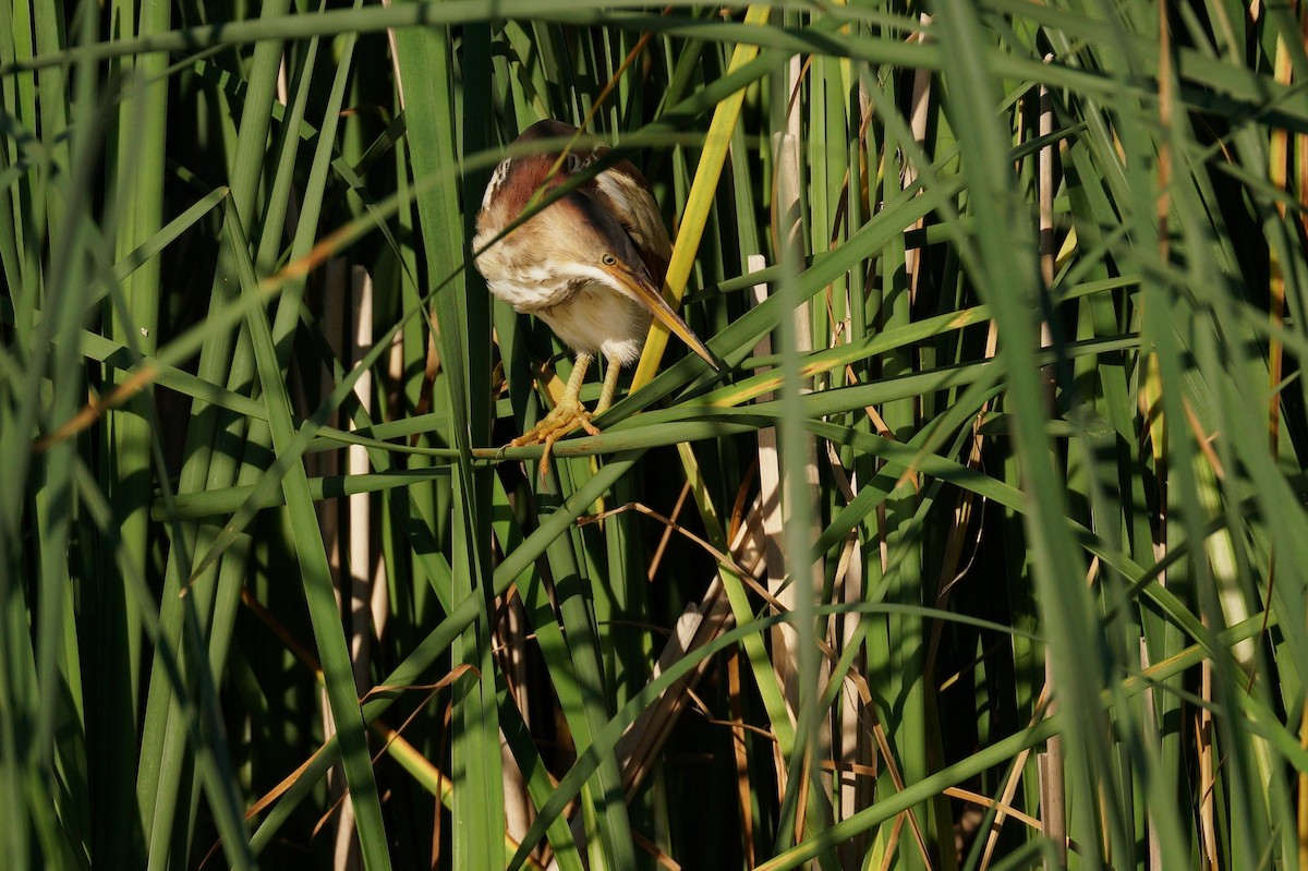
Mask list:
[[[576,354],[559,404],[509,442],[510,447],[544,445],[542,477],[548,476],[555,442],[578,426],[599,434],[591,421],[612,404],[619,373],[640,357],[653,319],[721,369],[663,298],[672,245],[649,182],[629,161],[594,174],[505,233],[530,207],[572,177],[585,175],[610,152],[603,145],[560,148],[577,133],[553,119],[522,131],[490,174],[472,239],[476,267],[490,293],[544,320]],[[534,143],[542,143],[539,150],[531,150]],[[604,356],[608,369],[591,413],[579,395],[596,354]]]

